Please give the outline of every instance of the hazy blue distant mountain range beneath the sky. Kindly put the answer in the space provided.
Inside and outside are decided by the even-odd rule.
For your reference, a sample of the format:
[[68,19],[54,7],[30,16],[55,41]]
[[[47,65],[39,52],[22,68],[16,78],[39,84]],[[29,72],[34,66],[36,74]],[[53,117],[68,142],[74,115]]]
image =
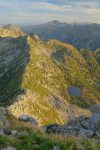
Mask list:
[[41,25],[24,26],[22,30],[26,33],[35,32],[43,40],[57,39],[72,44],[78,49],[100,48],[99,24],[67,24],[52,21]]

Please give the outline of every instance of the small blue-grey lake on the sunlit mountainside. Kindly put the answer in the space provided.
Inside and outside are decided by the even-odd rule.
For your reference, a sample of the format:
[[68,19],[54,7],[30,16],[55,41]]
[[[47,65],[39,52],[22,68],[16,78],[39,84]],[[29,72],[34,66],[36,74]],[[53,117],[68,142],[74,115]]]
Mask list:
[[81,89],[76,86],[71,86],[67,88],[68,94],[70,96],[81,96]]

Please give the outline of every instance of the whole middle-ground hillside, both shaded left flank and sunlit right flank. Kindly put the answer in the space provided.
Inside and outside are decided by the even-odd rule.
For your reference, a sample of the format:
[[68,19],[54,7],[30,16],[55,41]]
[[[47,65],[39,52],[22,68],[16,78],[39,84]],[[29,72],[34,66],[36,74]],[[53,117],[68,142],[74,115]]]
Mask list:
[[[12,104],[14,116],[28,114],[40,125],[90,115],[81,107],[99,104],[95,52],[90,58],[57,40],[44,43],[35,34],[15,36],[0,38],[0,105]],[[71,95],[69,88],[78,89],[79,95]]]

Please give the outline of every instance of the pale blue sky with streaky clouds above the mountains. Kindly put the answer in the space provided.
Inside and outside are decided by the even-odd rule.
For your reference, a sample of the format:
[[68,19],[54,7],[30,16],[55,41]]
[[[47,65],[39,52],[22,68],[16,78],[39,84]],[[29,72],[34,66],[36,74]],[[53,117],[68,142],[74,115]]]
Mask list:
[[99,23],[100,0],[0,0],[0,24]]

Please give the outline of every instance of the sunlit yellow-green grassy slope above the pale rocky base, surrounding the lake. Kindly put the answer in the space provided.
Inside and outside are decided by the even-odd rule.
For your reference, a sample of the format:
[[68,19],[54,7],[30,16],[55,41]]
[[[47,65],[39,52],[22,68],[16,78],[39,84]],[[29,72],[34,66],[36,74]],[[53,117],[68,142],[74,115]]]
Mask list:
[[[94,73],[91,73],[84,57],[71,45],[54,40],[47,44],[41,41],[35,43],[30,37],[28,42],[30,62],[23,76],[22,87],[38,92],[41,97],[49,93],[59,93],[77,105],[96,102],[99,92],[93,87],[93,82],[97,80],[97,74],[100,72],[97,72],[99,65],[95,67],[95,61],[92,70]],[[70,85],[83,89],[81,98],[74,101],[68,96],[66,88]]]

